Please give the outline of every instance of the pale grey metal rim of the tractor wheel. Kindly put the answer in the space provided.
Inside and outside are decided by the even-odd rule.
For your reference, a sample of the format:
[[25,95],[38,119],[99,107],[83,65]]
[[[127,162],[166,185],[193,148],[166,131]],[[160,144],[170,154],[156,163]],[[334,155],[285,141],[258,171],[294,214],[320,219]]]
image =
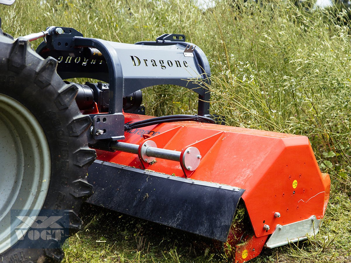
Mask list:
[[23,104],[0,94],[0,254],[12,245],[11,235],[16,238],[11,210],[22,210],[16,216],[28,210],[38,216],[50,174],[49,146],[38,120]]

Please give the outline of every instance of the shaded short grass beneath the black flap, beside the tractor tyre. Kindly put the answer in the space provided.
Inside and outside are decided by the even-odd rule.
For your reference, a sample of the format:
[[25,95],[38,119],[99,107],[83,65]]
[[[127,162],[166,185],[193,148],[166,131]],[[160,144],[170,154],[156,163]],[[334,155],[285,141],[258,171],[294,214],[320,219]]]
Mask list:
[[65,243],[66,262],[207,262],[215,256],[212,240],[88,204],[85,208],[87,223]]

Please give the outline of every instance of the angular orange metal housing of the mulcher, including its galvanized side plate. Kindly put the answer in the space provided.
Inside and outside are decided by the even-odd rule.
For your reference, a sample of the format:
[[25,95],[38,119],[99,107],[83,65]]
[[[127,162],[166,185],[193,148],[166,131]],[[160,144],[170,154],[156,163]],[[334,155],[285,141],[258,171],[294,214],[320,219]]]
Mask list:
[[[150,116],[125,114],[126,122],[147,118]],[[257,256],[265,244],[275,247],[301,240],[306,233],[313,234],[313,230],[314,233],[318,231],[318,222],[324,216],[329,200],[330,178],[320,172],[307,137],[178,122],[129,130],[124,142],[141,144],[148,140],[154,141],[159,148],[170,150],[197,147],[202,156],[199,167],[185,174],[179,162],[156,159],[157,162],[149,164],[140,160],[137,154],[121,151],[98,150],[98,160],[245,189],[241,198],[253,234],[246,237],[246,242],[237,244],[243,231],[231,229],[228,242],[235,247],[236,262]],[[299,232],[297,229],[301,225],[306,226]],[[287,233],[272,244],[266,242],[271,234],[283,232],[285,226]]]

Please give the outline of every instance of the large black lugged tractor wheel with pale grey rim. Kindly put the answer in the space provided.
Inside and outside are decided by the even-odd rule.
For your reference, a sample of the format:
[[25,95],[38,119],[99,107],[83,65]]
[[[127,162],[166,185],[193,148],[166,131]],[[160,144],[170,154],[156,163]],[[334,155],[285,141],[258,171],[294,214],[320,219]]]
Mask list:
[[91,118],[79,112],[78,88],[56,67],[28,41],[0,35],[0,263],[61,261],[92,194]]

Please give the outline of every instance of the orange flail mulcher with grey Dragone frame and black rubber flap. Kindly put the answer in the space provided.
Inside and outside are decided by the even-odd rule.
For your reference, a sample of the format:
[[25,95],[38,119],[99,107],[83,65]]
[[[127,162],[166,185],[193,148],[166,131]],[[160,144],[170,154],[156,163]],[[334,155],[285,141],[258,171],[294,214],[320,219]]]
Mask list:
[[[236,262],[318,232],[330,178],[307,137],[211,124],[210,64],[185,35],[128,44],[52,30],[62,34],[48,35],[37,52],[58,61],[60,77],[104,82],[69,89],[78,90],[78,107],[91,117],[86,134],[97,149],[88,202],[222,241]],[[141,89],[164,84],[198,93],[198,115],[147,121],[152,117],[126,113],[145,113]],[[75,96],[71,91],[55,99],[59,108]],[[72,136],[90,124],[75,121]],[[86,160],[80,152],[77,165]]]

